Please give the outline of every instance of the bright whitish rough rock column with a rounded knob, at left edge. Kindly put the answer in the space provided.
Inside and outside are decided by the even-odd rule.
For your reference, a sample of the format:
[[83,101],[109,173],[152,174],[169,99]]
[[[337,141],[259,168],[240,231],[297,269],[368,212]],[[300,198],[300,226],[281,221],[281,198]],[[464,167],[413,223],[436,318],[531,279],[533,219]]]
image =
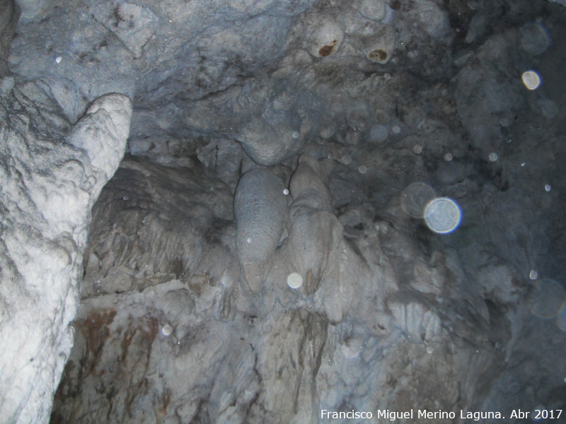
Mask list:
[[0,98],[0,423],[47,423],[73,345],[91,207],[126,147],[132,103],[74,127],[34,83]]

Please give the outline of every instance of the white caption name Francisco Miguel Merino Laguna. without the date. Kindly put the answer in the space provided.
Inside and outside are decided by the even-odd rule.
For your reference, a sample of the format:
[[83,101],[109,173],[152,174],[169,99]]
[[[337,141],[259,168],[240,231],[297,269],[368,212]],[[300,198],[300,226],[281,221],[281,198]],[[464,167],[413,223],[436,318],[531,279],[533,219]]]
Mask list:
[[[516,414],[516,411],[512,413]],[[427,411],[426,409],[417,409],[417,411],[390,411],[389,409],[379,409],[376,413],[362,412],[362,411],[328,411],[328,409],[320,410],[320,418],[328,420],[339,420],[339,419],[371,419],[371,418],[382,418],[385,420],[395,421],[395,420],[410,420],[412,418],[421,419],[450,419],[456,418],[456,412],[454,411]],[[460,411],[460,416],[458,418],[466,418],[468,420],[485,420],[487,418],[500,419],[504,418],[500,412],[487,412],[487,411]],[[517,416],[515,418],[518,418]],[[521,417],[522,418],[522,417]]]

